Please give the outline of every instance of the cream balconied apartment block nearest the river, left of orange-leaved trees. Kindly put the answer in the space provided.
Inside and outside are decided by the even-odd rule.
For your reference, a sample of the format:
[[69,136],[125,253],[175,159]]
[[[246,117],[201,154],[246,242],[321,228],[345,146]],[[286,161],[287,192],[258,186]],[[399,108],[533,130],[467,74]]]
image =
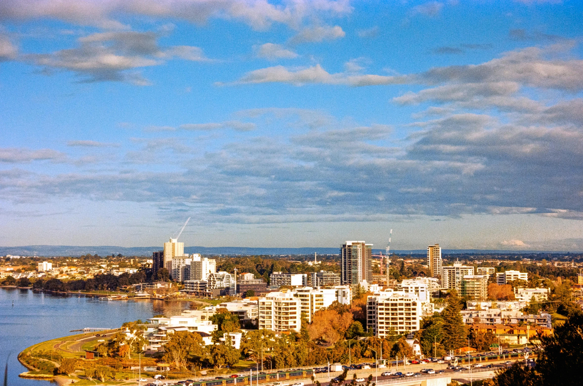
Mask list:
[[271,292],[259,298],[259,329],[276,332],[300,331],[301,302],[293,293]]

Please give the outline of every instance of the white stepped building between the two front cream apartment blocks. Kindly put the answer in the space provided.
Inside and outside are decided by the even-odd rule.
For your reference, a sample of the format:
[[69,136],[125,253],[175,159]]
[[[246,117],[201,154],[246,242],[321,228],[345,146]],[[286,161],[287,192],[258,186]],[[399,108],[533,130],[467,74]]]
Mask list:
[[309,323],[312,323],[314,313],[325,309],[335,301],[340,304],[350,304],[350,286],[333,286],[333,288],[298,288],[294,296],[300,299],[300,311],[304,313]]

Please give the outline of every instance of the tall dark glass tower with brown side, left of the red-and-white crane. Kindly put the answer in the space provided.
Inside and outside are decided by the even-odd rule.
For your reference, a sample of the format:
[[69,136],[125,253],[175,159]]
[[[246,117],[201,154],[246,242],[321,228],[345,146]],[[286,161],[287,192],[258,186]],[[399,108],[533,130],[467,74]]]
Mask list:
[[371,282],[373,245],[364,241],[347,241],[340,246],[340,284],[358,285]]

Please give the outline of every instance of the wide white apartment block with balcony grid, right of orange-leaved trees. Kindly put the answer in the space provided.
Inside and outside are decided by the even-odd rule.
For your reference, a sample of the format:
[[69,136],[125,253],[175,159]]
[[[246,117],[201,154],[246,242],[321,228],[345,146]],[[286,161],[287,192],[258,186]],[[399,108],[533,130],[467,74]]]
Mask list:
[[380,292],[367,298],[367,330],[375,337],[387,337],[419,330],[421,302],[414,293]]

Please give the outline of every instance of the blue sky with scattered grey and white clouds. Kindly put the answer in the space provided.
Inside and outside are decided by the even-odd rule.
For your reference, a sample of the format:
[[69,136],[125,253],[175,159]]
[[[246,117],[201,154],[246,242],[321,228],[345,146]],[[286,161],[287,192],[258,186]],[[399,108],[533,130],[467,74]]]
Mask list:
[[0,245],[581,251],[582,18],[4,0]]

